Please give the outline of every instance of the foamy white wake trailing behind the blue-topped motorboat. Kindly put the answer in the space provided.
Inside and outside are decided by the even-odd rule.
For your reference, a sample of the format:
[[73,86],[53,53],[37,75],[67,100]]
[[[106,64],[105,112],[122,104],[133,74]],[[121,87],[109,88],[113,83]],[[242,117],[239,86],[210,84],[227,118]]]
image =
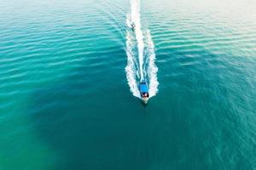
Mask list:
[[140,0],[131,0],[131,9],[126,17],[126,55],[127,66],[125,67],[126,77],[131,93],[140,98],[138,82],[148,82],[149,97],[157,94],[158,68],[154,64],[154,42],[150,31],[142,26],[140,19]]

